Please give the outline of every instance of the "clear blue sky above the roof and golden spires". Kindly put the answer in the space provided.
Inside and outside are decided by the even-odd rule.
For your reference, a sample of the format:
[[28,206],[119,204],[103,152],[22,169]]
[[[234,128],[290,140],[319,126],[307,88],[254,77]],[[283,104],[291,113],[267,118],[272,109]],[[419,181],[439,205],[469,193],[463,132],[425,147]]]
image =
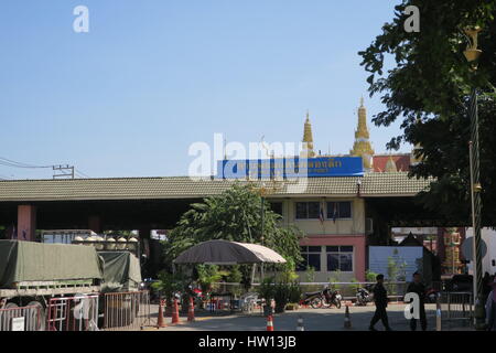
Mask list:
[[[362,95],[357,52],[393,14],[391,0],[10,0],[0,7],[0,157],[69,163],[90,176],[185,175],[192,142],[299,141],[347,153]],[[89,33],[73,9],[89,9]],[[405,146],[402,151],[410,151]],[[51,170],[0,165],[0,175]]]

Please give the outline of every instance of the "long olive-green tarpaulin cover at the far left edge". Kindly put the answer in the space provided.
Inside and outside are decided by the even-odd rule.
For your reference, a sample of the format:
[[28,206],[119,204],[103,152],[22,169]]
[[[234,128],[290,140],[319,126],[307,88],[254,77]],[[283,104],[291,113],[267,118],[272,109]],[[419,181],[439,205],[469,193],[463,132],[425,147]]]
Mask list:
[[0,240],[0,288],[103,277],[103,264],[93,246]]

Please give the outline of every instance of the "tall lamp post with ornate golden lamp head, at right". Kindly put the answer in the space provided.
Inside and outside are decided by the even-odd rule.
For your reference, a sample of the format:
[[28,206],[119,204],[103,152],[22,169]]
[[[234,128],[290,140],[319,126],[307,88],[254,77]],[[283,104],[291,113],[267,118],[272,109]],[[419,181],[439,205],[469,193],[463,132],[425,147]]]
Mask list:
[[[477,49],[477,35],[479,28],[466,29],[465,34],[470,40],[468,47],[464,51],[465,58],[471,64],[475,75],[477,60],[482,51]],[[476,330],[483,330],[485,325],[485,310],[482,302],[482,258],[481,258],[481,175],[479,175],[479,147],[478,147],[478,113],[477,113],[477,88],[474,87],[470,100],[471,141],[470,141],[470,170],[471,170],[471,199],[472,199],[472,226],[473,236],[473,278],[474,278],[474,323]]]

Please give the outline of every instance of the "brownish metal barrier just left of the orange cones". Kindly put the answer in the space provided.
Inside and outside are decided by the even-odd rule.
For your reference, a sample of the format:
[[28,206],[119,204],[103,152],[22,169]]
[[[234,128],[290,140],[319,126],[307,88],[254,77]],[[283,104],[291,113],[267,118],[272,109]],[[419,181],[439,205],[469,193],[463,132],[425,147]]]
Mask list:
[[104,295],[104,330],[140,330],[151,325],[149,291]]

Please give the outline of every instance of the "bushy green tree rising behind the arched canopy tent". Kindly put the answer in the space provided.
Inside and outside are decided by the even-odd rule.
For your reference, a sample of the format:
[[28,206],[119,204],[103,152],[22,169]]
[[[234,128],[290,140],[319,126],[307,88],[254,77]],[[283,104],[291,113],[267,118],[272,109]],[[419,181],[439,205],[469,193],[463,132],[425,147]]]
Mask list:
[[[294,267],[301,260],[299,239],[302,233],[293,226],[281,226],[281,216],[270,210],[269,203],[263,205],[263,245]],[[191,246],[212,239],[261,243],[262,202],[251,188],[235,184],[222,194],[191,206],[164,242],[166,261],[172,263]],[[244,277],[250,275],[246,267],[241,266],[240,270]]]

